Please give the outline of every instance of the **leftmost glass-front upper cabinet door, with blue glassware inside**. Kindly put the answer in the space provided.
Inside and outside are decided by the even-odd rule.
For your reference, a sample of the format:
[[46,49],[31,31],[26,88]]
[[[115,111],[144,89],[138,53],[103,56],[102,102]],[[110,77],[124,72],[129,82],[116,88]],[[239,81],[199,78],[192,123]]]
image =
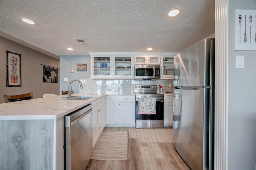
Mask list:
[[92,57],[92,77],[111,77],[112,76],[112,56],[93,56]]

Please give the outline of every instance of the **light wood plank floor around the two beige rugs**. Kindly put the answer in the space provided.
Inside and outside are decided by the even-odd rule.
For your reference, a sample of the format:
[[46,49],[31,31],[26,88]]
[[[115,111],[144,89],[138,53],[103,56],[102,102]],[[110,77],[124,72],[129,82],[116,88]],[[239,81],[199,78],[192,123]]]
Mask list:
[[140,143],[135,127],[104,131],[128,131],[128,160],[90,160],[86,170],[190,170],[172,143]]

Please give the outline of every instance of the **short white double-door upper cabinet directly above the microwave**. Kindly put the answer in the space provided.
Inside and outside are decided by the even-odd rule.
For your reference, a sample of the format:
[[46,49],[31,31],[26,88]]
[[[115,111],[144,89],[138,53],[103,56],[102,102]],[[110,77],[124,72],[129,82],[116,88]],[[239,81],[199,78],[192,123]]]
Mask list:
[[135,55],[134,64],[140,65],[160,65],[161,56],[159,55]]

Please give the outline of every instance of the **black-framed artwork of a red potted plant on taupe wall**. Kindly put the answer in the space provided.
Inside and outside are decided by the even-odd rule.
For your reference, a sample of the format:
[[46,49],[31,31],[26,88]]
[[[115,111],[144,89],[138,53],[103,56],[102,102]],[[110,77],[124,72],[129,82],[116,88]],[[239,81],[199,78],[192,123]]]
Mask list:
[[6,87],[21,87],[20,54],[6,51]]

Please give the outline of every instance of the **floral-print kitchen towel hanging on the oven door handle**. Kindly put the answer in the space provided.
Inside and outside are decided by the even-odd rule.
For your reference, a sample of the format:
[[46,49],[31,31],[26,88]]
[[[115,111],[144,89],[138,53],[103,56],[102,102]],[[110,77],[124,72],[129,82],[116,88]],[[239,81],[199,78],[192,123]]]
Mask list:
[[156,114],[156,98],[138,98],[138,114]]

